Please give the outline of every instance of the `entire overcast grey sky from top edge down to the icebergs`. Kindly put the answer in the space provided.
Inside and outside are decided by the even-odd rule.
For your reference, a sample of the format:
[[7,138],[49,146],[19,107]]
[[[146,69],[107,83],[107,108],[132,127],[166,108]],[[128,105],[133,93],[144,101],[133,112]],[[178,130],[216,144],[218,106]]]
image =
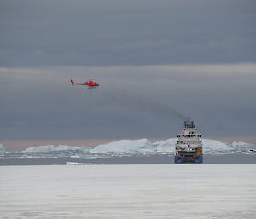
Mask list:
[[[255,136],[255,1],[1,1],[1,140]],[[93,90],[69,79],[96,79]],[[256,142],[256,140],[255,140]]]

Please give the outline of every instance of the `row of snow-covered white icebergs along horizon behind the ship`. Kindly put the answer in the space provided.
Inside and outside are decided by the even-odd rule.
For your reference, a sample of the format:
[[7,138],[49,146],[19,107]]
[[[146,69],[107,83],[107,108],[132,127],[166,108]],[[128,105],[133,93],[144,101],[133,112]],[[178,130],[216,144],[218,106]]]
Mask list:
[[[96,147],[75,147],[65,145],[47,145],[38,147],[28,147],[24,153],[50,153],[62,151],[80,151],[84,153],[172,153],[174,151],[176,138],[165,141],[151,142],[146,138],[137,140],[120,140]],[[203,139],[204,153],[231,153],[241,152],[255,148],[253,144],[246,142],[226,143],[222,141]]]

